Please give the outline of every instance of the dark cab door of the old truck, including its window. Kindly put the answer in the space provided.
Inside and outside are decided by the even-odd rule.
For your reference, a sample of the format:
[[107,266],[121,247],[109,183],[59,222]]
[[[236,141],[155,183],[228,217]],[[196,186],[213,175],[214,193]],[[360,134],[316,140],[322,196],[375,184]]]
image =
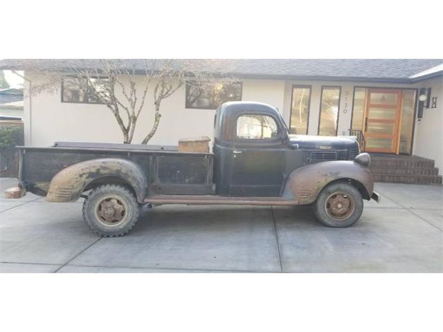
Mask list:
[[230,196],[279,196],[284,177],[283,129],[274,116],[244,113],[233,132]]

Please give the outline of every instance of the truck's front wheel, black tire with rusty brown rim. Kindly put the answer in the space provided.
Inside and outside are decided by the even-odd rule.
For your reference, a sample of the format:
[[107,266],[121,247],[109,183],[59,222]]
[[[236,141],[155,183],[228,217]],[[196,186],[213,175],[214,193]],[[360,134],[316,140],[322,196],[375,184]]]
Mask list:
[[314,203],[318,221],[328,227],[348,227],[359,220],[363,198],[359,190],[345,182],[327,185]]

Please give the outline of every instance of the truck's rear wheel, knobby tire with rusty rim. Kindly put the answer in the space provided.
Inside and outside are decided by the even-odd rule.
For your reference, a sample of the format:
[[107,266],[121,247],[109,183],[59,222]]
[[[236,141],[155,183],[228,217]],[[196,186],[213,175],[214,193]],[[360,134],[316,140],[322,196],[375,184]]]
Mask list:
[[122,237],[138,220],[134,194],[121,185],[100,185],[83,203],[84,223],[100,237]]

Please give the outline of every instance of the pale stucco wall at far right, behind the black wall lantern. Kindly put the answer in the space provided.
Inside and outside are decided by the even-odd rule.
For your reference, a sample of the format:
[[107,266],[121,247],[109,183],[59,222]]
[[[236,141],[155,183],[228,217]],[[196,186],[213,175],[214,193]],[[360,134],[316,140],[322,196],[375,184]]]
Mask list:
[[443,80],[442,77],[421,82],[418,87],[431,88],[437,97],[437,108],[424,109],[420,122],[415,120],[413,154],[435,160],[435,167],[443,174]]

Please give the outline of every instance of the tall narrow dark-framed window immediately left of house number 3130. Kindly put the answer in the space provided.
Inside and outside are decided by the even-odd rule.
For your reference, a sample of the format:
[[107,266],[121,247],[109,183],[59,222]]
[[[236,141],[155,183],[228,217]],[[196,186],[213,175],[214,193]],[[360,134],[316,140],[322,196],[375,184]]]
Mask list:
[[340,92],[340,86],[322,86],[318,135],[336,136]]

